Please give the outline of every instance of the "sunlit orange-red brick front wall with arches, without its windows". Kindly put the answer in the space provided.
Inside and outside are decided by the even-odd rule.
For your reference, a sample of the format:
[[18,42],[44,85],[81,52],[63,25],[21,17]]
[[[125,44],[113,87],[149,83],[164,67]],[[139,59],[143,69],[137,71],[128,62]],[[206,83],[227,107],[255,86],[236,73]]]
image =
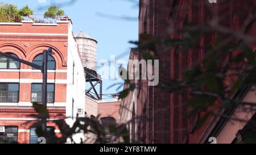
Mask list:
[[[52,47],[55,52],[52,57],[55,60],[56,69],[48,71],[48,83],[55,84],[54,103],[47,104],[50,119],[65,118],[67,103],[72,104],[67,100],[67,82],[72,81],[68,78],[67,64],[68,61],[72,61],[72,58],[68,60],[68,37],[71,25],[69,20],[59,21],[56,24],[35,24],[31,21],[0,23],[1,52],[13,53],[30,62],[42,54],[44,49]],[[77,49],[72,52],[76,52],[74,55],[79,57]],[[79,62],[76,64],[79,66]],[[83,68],[81,75],[84,75]],[[3,82],[19,83],[19,100],[18,103],[0,103],[0,126],[18,126],[18,143],[30,143],[30,128],[35,121],[28,116],[35,114],[31,103],[31,83],[42,83],[42,73],[39,70],[32,70],[30,66],[20,64],[20,69],[0,69],[0,83]],[[26,123],[31,120],[31,123]],[[59,134],[60,131],[57,131],[55,124],[49,122],[47,125],[55,127],[55,131]]]

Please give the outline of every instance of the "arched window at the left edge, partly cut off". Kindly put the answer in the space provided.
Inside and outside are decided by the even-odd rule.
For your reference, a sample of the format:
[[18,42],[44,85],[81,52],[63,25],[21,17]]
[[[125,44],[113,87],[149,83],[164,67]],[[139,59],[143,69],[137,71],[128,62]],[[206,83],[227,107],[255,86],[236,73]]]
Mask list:
[[[17,57],[13,53],[9,53],[12,56]],[[0,69],[19,69],[20,63],[19,61],[15,61],[11,58],[0,55]]]

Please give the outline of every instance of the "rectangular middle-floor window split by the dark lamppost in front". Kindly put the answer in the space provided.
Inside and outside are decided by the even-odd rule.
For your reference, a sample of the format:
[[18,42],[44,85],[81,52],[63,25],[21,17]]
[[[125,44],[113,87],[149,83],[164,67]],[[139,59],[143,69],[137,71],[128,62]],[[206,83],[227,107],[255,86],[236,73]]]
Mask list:
[[[47,103],[54,103],[55,85],[47,84]],[[42,103],[42,83],[32,83],[31,102]]]

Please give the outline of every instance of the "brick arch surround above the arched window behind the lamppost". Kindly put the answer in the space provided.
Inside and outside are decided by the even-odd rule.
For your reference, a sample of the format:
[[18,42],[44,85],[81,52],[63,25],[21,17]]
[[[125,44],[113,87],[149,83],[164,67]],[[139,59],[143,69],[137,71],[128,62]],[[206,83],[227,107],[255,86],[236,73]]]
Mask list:
[[[32,62],[34,58],[40,54],[43,53],[45,49],[48,49],[49,47],[52,47],[52,50],[55,52],[55,55],[51,55],[56,62],[56,69],[62,69],[63,66],[67,66],[66,60],[63,56],[63,54],[53,45],[49,44],[40,44],[36,45],[33,47],[29,52],[28,52],[28,61]],[[31,68],[31,67],[30,67]]]

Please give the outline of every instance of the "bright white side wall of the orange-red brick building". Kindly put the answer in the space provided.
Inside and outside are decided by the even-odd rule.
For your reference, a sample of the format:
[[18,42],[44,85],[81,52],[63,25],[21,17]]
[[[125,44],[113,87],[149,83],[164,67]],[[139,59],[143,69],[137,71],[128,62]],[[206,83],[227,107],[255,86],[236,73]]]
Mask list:
[[[78,109],[82,109],[84,117],[85,108],[85,75],[84,68],[78,53],[77,43],[73,38],[72,23],[69,22],[68,30],[68,58],[67,58],[67,105],[66,105],[66,122],[72,126],[76,120]],[[73,66],[74,65],[74,66]],[[74,79],[73,79],[74,77]],[[76,138],[79,141],[76,141]],[[84,135],[76,135],[74,140],[80,143],[80,138],[84,139]]]

